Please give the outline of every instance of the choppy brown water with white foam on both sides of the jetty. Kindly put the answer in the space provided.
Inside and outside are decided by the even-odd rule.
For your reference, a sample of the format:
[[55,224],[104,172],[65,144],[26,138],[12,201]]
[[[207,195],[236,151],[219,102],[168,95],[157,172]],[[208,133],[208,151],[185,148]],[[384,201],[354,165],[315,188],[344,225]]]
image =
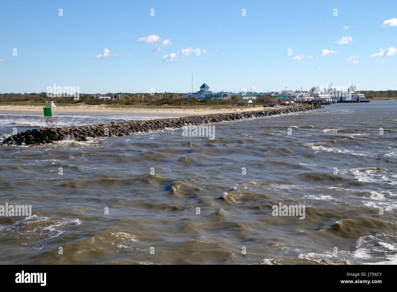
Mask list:
[[[0,217],[0,263],[396,263],[396,122],[397,101],[379,101],[212,124],[214,140],[169,129],[2,146],[0,205],[33,217]],[[39,125],[0,113],[0,133]],[[305,218],[272,216],[279,203]]]

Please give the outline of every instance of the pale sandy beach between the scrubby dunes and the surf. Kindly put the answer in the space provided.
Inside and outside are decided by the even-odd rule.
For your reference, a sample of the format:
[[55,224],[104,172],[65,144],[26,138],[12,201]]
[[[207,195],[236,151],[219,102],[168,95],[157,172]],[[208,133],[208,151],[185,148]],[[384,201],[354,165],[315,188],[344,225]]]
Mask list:
[[[220,114],[227,112],[243,112],[264,109],[262,106],[238,108],[212,109],[212,108],[114,108],[105,105],[78,105],[58,106],[59,114],[131,114],[134,116],[170,116],[185,117],[205,114]],[[0,112],[42,113],[42,106],[2,105]]]

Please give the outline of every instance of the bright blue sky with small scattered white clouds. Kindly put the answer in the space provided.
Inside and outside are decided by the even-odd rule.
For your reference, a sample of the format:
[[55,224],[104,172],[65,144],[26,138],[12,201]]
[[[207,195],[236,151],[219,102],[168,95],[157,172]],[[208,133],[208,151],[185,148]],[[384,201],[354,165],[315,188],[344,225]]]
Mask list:
[[186,93],[191,73],[194,91],[397,89],[395,17],[382,0],[3,1],[0,92]]

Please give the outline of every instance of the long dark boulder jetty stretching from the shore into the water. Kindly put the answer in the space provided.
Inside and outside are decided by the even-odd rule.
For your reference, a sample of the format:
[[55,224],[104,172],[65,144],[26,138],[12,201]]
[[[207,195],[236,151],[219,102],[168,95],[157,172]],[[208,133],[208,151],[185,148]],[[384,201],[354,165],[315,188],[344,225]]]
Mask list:
[[123,123],[99,124],[92,126],[73,126],[56,129],[27,130],[4,139],[6,145],[46,144],[64,139],[87,141],[88,137],[119,137],[133,135],[139,132],[164,130],[166,128],[181,128],[183,126],[219,123],[224,121],[241,120],[276,114],[303,112],[322,108],[320,105],[295,105],[282,108],[263,109],[248,112],[231,112],[222,114],[208,114],[204,116],[188,116],[185,118],[167,118],[157,120],[132,121]]

